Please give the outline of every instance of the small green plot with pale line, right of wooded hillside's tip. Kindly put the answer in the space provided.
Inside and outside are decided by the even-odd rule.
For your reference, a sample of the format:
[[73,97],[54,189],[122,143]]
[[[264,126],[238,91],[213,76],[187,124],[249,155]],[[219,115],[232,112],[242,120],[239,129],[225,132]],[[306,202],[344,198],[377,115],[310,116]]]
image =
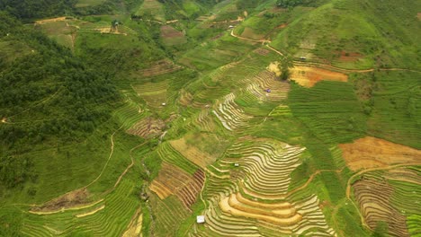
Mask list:
[[159,83],[133,84],[133,90],[139,97],[147,101],[148,106],[152,108],[162,108],[163,103],[167,103],[167,81]]

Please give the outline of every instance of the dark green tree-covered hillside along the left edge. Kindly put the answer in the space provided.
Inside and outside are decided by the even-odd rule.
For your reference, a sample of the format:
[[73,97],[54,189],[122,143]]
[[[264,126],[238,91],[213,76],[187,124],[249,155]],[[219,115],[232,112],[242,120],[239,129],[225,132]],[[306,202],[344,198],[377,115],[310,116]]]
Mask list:
[[[6,36],[9,34],[8,36]],[[112,75],[87,66],[69,49],[0,12],[0,42],[29,52],[0,64],[0,187],[31,178],[31,162],[18,159],[34,145],[88,136],[111,116],[118,100]]]

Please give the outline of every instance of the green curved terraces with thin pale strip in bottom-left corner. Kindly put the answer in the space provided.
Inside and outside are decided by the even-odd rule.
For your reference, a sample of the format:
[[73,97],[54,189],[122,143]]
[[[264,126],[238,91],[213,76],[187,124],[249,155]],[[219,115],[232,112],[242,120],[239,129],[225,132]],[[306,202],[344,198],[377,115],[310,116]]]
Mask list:
[[22,223],[22,233],[30,236],[120,236],[139,208],[139,199],[131,195],[134,186],[128,180],[103,202],[81,209],[50,215],[29,214]]

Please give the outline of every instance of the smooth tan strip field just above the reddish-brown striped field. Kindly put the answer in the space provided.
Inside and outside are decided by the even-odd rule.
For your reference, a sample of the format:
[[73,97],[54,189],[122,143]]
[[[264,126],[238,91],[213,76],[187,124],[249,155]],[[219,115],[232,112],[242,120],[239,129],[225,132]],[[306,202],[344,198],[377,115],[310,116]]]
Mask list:
[[185,158],[197,164],[202,169],[205,169],[206,166],[216,161],[216,157],[202,151],[195,145],[187,144],[184,138],[171,141],[170,144],[180,154],[183,154]]

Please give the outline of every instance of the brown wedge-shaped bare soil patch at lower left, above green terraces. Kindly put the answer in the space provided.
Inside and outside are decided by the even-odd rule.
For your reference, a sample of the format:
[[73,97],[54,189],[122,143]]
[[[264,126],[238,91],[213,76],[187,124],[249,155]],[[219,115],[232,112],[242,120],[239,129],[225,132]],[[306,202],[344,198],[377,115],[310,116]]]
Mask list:
[[54,212],[70,206],[78,206],[88,203],[89,192],[87,189],[77,189],[61,197],[52,199],[43,206],[31,209],[32,212]]

